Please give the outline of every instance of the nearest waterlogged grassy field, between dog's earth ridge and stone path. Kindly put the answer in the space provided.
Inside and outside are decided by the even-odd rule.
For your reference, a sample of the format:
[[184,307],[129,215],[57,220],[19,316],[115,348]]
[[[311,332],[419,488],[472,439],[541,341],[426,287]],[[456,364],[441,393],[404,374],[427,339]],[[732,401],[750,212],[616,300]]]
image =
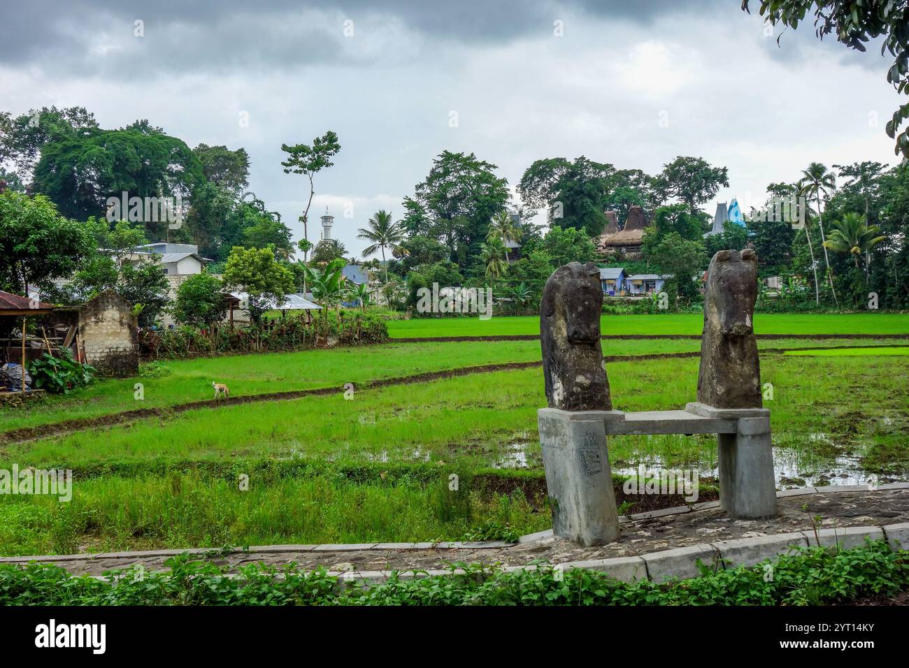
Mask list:
[[[609,372],[620,409],[694,399],[696,359],[614,363]],[[880,379],[907,373],[902,358],[765,357],[777,458],[792,459],[791,474],[833,475],[851,458],[865,473],[904,476],[909,388]],[[336,394],[256,404],[255,413],[198,410],[8,445],[0,468],[72,468],[77,481],[72,503],[37,496],[0,503],[0,545],[35,553],[535,531],[549,522],[540,498],[468,487],[455,502],[445,483],[452,473],[466,480],[496,467],[525,467],[540,478],[540,385],[538,369],[477,374],[352,400]],[[707,436],[625,436],[610,443],[610,459],[619,473],[642,463],[709,476],[715,444]],[[304,473],[275,474],[275,463]],[[238,489],[240,475],[249,476],[248,492]]]

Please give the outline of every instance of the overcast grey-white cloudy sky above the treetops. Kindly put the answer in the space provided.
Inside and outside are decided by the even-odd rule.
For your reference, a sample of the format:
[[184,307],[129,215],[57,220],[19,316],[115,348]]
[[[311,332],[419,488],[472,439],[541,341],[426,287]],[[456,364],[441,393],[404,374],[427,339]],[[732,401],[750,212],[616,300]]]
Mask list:
[[350,253],[445,149],[513,186],[543,157],[654,174],[700,155],[729,167],[718,199],[743,208],[811,161],[895,164],[884,123],[900,99],[879,49],[821,43],[811,22],[778,47],[758,0],[752,15],[739,0],[0,5],[0,109],[82,105],[105,128],[148,118],[190,146],[243,146],[251,189],[296,238],[305,179],[284,174],[280,146],[335,130],[313,211],[328,206]]

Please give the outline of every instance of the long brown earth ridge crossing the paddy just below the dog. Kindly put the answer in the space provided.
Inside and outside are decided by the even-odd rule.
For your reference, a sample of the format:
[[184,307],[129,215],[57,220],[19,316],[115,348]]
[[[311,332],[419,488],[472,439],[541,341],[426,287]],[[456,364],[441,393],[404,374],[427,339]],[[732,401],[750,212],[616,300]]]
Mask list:
[[[699,337],[696,337],[699,338]],[[824,351],[829,352],[830,354],[836,354],[840,349],[844,349],[844,353],[848,354],[862,354],[864,349],[867,349],[866,354],[880,354],[888,355],[901,354],[898,351],[906,350],[904,344],[870,344],[867,346],[855,345],[855,344],[845,344],[840,346],[798,346],[797,348],[775,348],[775,347],[763,347],[761,349],[761,354],[800,354],[803,351],[806,354],[820,354]],[[891,351],[891,349],[893,349]],[[617,362],[634,362],[634,361],[646,361],[646,360],[656,360],[656,359],[673,359],[673,358],[690,358],[698,357],[700,351],[698,350],[689,350],[681,352],[667,352],[667,353],[652,353],[652,354],[626,354],[626,355],[616,355],[616,354],[605,354],[604,360],[607,364],[617,363]],[[232,360],[233,358],[221,358]],[[133,422],[138,422],[141,420],[147,420],[151,418],[167,418],[175,414],[186,413],[187,411],[195,410],[216,410],[222,407],[242,405],[242,404],[256,404],[264,402],[276,402],[276,401],[289,401],[294,399],[301,399],[306,396],[325,396],[329,394],[344,394],[345,389],[348,386],[352,386],[355,391],[365,391],[365,390],[376,390],[383,387],[395,386],[395,385],[406,385],[406,384],[421,384],[427,383],[430,381],[441,380],[445,378],[456,378],[464,375],[471,374],[491,374],[501,371],[517,370],[517,369],[527,369],[535,366],[541,366],[542,362],[531,360],[526,362],[504,362],[501,364],[480,364],[476,366],[464,366],[458,368],[449,368],[440,371],[431,371],[425,372],[422,374],[411,374],[411,375],[401,375],[393,376],[388,378],[379,378],[375,380],[369,380],[364,383],[357,384],[344,384],[344,385],[335,385],[329,387],[314,387],[302,390],[286,390],[280,392],[264,392],[260,394],[241,394],[233,395],[230,397],[220,398],[220,399],[205,399],[197,400],[191,402],[185,402],[180,404],[171,404],[161,407],[149,407],[149,408],[138,408],[129,411],[121,411],[110,414],[98,415],[96,417],[86,417],[86,418],[76,418],[68,420],[60,420],[57,422],[51,422],[47,424],[36,424],[35,426],[25,426],[20,428],[14,428],[6,430],[0,433],[0,447],[8,444],[21,444],[28,441],[32,441],[39,438],[47,438],[50,436],[60,435],[60,434],[71,434],[74,432],[79,432],[87,429],[95,429],[99,427],[114,426],[117,424],[128,424]]]

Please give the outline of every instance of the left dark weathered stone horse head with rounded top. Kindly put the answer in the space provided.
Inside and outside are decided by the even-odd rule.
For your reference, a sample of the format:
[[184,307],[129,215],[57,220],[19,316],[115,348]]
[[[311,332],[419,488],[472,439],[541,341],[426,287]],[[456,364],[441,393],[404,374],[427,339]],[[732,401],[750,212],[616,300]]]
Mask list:
[[546,400],[564,411],[611,411],[600,347],[603,289],[594,263],[565,264],[546,281],[540,345]]

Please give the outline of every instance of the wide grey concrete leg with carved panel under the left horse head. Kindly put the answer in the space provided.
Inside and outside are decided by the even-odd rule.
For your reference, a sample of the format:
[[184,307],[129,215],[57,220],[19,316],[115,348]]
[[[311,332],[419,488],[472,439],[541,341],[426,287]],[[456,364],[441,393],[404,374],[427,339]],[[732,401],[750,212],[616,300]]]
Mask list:
[[555,408],[538,413],[553,533],[574,543],[601,545],[619,535],[604,423],[612,414]]

